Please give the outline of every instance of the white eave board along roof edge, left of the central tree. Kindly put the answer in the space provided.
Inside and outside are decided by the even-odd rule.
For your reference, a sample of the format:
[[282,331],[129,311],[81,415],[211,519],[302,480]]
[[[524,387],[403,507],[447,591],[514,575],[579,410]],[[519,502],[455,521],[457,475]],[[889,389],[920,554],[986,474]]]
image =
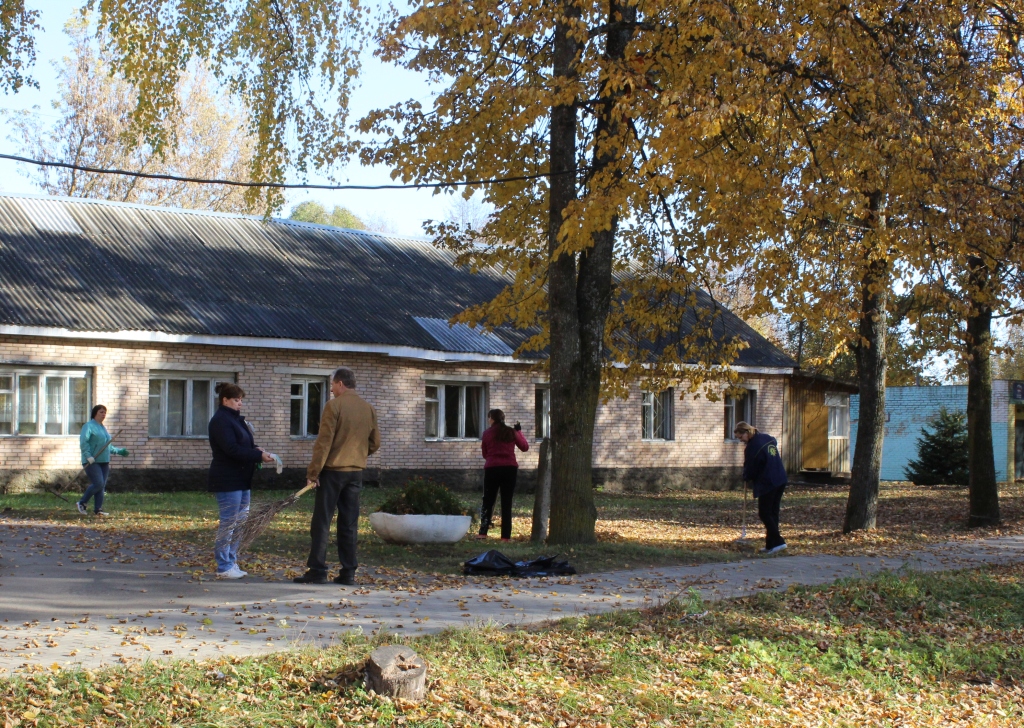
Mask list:
[[347,353],[384,354],[398,358],[425,359],[428,361],[482,361],[488,363],[531,365],[532,359],[517,359],[498,354],[435,351],[415,346],[388,344],[358,344],[340,341],[304,339],[271,339],[258,336],[213,336],[210,334],[168,334],[160,331],[72,331],[55,327],[0,325],[0,335],[42,336],[55,339],[99,339],[101,341],[151,342],[160,344],[203,344],[207,346],[245,346],[268,349],[298,349],[305,351],[339,351]]

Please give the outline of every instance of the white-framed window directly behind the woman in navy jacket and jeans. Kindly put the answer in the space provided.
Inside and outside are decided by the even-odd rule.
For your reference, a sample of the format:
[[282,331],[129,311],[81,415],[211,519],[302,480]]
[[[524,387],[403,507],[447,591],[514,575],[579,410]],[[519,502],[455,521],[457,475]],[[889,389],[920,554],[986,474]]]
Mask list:
[[150,437],[208,437],[222,375],[150,377]]

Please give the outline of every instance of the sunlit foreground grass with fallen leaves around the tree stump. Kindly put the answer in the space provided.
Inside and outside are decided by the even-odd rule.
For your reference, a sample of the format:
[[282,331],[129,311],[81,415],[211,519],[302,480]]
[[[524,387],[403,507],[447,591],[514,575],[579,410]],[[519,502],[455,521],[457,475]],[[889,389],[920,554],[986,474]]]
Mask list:
[[[388,638],[0,681],[14,726],[1020,726],[1024,565],[410,640],[429,699],[358,679]],[[390,640],[395,641],[395,640]]]

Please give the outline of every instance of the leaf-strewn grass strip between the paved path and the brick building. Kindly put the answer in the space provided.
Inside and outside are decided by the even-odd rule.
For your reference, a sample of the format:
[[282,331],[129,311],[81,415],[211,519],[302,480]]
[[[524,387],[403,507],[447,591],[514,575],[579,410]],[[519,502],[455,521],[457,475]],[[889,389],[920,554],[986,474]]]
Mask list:
[[[370,528],[367,515],[391,495],[385,488],[366,488],[359,519],[359,558],[385,577],[389,573],[460,573],[462,563],[486,548],[500,548],[513,558],[562,551],[581,572],[665,564],[724,561],[741,550],[739,536],[742,494],[690,490],[660,495],[597,494],[598,543],[571,549],[538,547],[529,543],[532,496],[515,500],[513,542],[485,544],[465,540],[452,546],[402,547],[385,544]],[[285,494],[257,491],[255,499]],[[467,504],[478,496],[462,494]],[[73,498],[69,496],[69,498]],[[1005,524],[995,530],[967,530],[968,494],[964,488],[919,487],[883,483],[879,529],[869,533],[840,532],[847,490],[840,487],[793,488],[782,502],[782,532],[791,554],[896,553],[906,548],[954,539],[973,539],[996,532],[1024,532],[1024,483],[1004,487],[1000,507]],[[306,496],[274,521],[243,558],[254,573],[304,568],[309,545],[312,497]],[[748,532],[762,539],[756,504],[749,503]],[[108,519],[83,518],[71,504],[48,494],[0,496],[0,511],[11,517],[87,523],[90,527],[131,533],[165,545],[201,569],[212,569],[213,533],[217,515],[213,497],[206,493],[109,494]],[[9,510],[8,510],[9,509]],[[497,537],[498,530],[492,531]],[[336,558],[330,553],[329,560]]]

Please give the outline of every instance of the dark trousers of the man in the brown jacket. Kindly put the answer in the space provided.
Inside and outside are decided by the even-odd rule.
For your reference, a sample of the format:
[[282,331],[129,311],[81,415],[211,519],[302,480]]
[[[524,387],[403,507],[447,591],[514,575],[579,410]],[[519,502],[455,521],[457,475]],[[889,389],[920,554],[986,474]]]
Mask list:
[[313,518],[309,525],[312,546],[306,566],[310,571],[327,573],[327,545],[331,540],[331,521],[338,512],[338,561],[342,571],[354,571],[355,544],[359,533],[359,490],[362,471],[324,470],[316,487]]

